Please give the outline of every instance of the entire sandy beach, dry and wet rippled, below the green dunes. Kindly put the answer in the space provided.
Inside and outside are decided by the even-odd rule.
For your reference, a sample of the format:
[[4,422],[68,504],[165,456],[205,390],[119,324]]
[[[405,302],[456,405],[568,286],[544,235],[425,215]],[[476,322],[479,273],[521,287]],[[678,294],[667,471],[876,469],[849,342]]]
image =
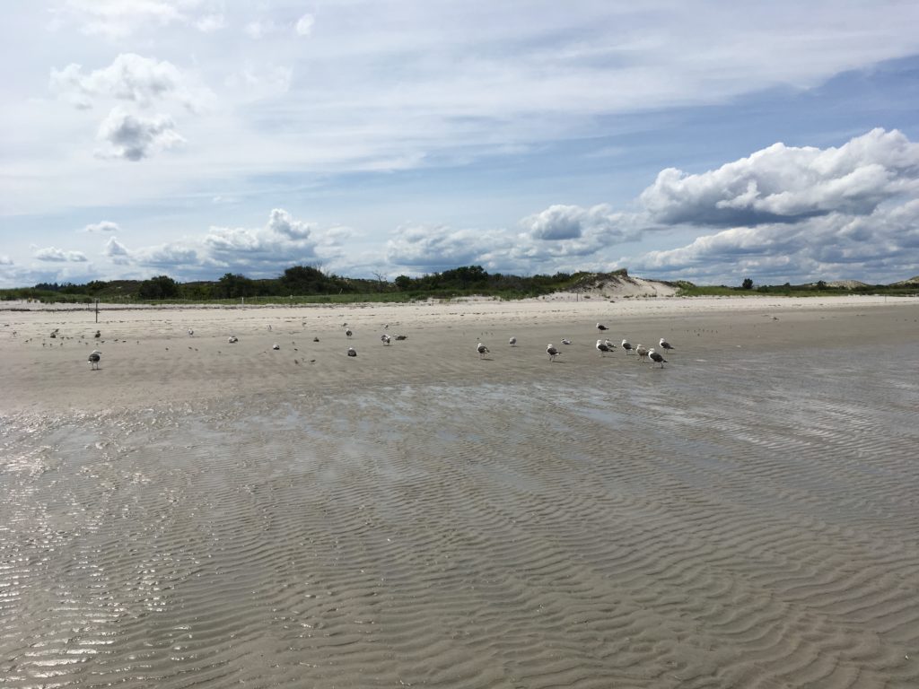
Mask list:
[[917,333],[883,298],[0,311],[0,685],[919,685]]

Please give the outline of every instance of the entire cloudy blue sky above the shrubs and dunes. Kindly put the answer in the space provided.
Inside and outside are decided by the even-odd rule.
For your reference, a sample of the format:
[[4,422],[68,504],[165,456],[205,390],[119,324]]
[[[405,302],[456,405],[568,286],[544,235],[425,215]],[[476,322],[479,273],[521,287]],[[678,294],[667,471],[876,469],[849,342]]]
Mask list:
[[0,287],[919,275],[913,0],[10,0]]

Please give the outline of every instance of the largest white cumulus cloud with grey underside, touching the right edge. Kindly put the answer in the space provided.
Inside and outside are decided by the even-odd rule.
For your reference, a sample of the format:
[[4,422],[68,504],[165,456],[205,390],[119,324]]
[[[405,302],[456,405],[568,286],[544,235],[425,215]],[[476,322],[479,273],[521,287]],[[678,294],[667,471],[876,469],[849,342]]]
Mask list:
[[833,212],[867,215],[919,190],[919,144],[872,130],[839,148],[776,143],[700,175],[668,168],[640,201],[667,224],[755,226]]

